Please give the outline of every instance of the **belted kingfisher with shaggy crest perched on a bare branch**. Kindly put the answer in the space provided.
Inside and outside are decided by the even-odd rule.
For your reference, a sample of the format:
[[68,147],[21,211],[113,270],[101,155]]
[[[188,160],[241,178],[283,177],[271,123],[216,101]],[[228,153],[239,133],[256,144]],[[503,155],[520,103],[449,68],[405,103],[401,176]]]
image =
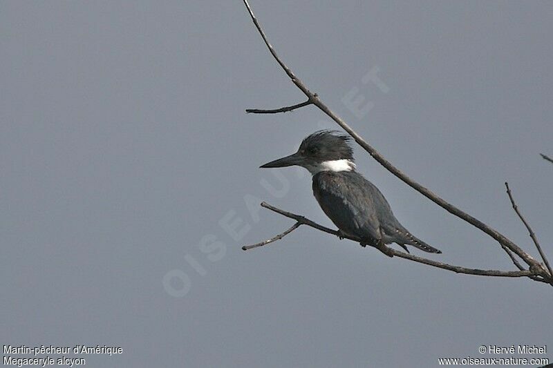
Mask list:
[[355,171],[350,137],[336,130],[319,130],[303,139],[293,155],[276,159],[262,168],[303,166],[313,175],[313,194],[339,233],[380,246],[405,244],[429,253],[440,250],[409,233],[395,218],[378,188]]

